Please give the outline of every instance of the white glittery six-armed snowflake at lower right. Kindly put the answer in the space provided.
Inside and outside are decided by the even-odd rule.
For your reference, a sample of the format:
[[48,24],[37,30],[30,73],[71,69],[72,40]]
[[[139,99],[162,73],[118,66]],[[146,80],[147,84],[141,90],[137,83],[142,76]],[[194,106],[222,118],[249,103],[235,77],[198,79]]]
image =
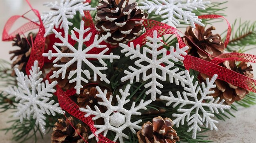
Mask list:
[[[168,101],[166,103],[166,106],[169,106],[171,103],[173,104],[173,107],[178,106],[180,107],[177,110],[178,112],[181,112],[181,114],[173,114],[173,117],[177,117],[175,120],[173,120],[173,124],[176,124],[177,127],[179,127],[180,122],[182,125],[184,125],[184,121],[186,118],[186,121],[188,122],[188,125],[192,125],[187,130],[188,132],[192,131],[192,138],[196,138],[197,131],[200,131],[203,124],[208,128],[210,125],[210,129],[218,130],[216,127],[216,123],[218,123],[217,120],[212,119],[214,117],[213,113],[219,113],[219,110],[223,113],[224,109],[229,109],[230,106],[223,105],[223,102],[225,100],[222,100],[219,102],[220,98],[217,98],[216,100],[213,98],[213,96],[207,96],[208,94],[214,93],[212,88],[215,88],[216,85],[214,85],[214,82],[217,78],[217,74],[215,74],[211,80],[209,78],[206,79],[206,85],[204,85],[204,82],[202,82],[202,89],[200,86],[198,86],[198,82],[195,82],[193,85],[193,76],[190,77],[189,71],[185,71],[186,80],[189,82],[188,87],[184,87],[184,90],[182,92],[182,95],[180,91],[177,91],[177,97],[173,95],[172,92],[169,92],[170,96],[160,96],[161,100]],[[201,95],[199,98],[199,94]],[[182,98],[183,96],[183,98]],[[189,100],[188,97],[192,97],[193,100]],[[191,105],[191,108],[182,108],[185,105]],[[205,110],[205,108],[208,108],[208,110]],[[201,113],[200,113],[201,112]],[[202,117],[200,116],[202,114]],[[199,125],[200,126],[199,126]]]

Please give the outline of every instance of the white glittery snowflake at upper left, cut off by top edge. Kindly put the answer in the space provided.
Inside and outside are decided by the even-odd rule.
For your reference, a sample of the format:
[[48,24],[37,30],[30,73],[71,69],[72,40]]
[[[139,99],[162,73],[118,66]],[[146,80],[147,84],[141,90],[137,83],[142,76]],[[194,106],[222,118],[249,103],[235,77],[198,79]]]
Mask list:
[[83,11],[95,10],[88,2],[83,2],[85,2],[85,0],[61,0],[60,3],[57,1],[45,3],[45,6],[50,7],[54,11],[45,12],[41,17],[45,28],[47,28],[44,36],[46,37],[55,26],[56,28],[63,28],[66,37],[69,26],[73,25],[71,22],[68,22],[67,19],[73,19],[74,15],[76,15],[76,11],[79,11],[82,16],[85,16]]

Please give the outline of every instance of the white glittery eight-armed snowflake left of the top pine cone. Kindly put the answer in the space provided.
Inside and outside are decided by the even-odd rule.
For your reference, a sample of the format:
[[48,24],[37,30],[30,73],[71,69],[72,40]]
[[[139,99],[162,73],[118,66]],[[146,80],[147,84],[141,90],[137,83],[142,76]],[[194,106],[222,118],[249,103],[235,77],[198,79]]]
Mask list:
[[[62,73],[61,78],[64,79],[66,76],[66,70],[68,67],[70,67],[73,63],[77,62],[77,68],[76,70],[73,70],[70,72],[69,76],[67,77],[69,79],[70,83],[76,82],[76,86],[74,87],[76,89],[76,93],[80,94],[80,89],[83,88],[81,85],[81,81],[88,83],[91,79],[90,72],[88,69],[83,70],[82,69],[82,64],[85,63],[90,67],[90,69],[93,70],[93,79],[94,81],[97,80],[97,75],[100,77],[101,81],[105,81],[107,83],[110,83],[110,81],[106,78],[106,74],[102,74],[101,70],[108,69],[106,67],[106,63],[103,61],[103,59],[109,59],[110,62],[112,63],[113,59],[119,59],[120,56],[115,56],[113,53],[110,53],[109,55],[105,54],[108,52],[108,48],[106,48],[106,45],[101,45],[100,43],[104,40],[106,40],[108,37],[111,36],[111,34],[108,32],[107,35],[102,35],[101,38],[98,39],[99,35],[95,35],[94,41],[91,45],[89,45],[87,48],[83,49],[83,43],[86,41],[89,41],[92,33],[88,34],[84,38],[84,34],[90,30],[90,28],[84,29],[84,21],[81,21],[80,29],[74,28],[76,32],[79,33],[79,38],[76,37],[75,33],[73,30],[71,30],[71,38],[75,41],[78,42],[78,48],[76,49],[74,46],[72,46],[70,43],[67,41],[67,37],[62,37],[61,32],[57,32],[56,30],[53,30],[55,33],[56,37],[58,37],[63,43],[55,43],[53,48],[56,50],[57,53],[52,53],[52,50],[49,50],[48,53],[43,53],[43,56],[48,56],[49,59],[52,59],[52,57],[57,57],[53,63],[56,63],[57,61],[61,60],[63,57],[69,57],[72,58],[70,61],[63,65],[58,65],[54,64],[54,67],[59,67],[57,71],[53,72],[53,75],[50,76],[50,78],[58,78],[59,74]],[[73,53],[62,53],[57,47],[57,46],[66,46],[69,48]],[[88,54],[92,48],[106,48],[99,54]],[[99,63],[103,65],[103,67],[96,67],[94,64],[91,63],[91,60],[88,60],[87,58],[95,58],[98,59]],[[74,75],[76,76],[72,78]],[[83,74],[88,78],[85,79],[83,77]],[[72,79],[71,79],[72,78]]]

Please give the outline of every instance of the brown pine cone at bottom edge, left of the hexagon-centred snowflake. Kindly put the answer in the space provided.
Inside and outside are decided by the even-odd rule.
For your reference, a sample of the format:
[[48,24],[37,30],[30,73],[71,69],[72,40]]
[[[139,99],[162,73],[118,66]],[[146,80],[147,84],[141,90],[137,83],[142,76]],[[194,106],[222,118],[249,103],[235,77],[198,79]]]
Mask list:
[[80,133],[83,139],[71,126],[74,126],[74,119],[68,117],[66,121],[64,119],[58,119],[58,122],[54,124],[52,133],[52,143],[85,143],[83,139],[88,141],[87,129],[81,124],[74,126],[76,131]]

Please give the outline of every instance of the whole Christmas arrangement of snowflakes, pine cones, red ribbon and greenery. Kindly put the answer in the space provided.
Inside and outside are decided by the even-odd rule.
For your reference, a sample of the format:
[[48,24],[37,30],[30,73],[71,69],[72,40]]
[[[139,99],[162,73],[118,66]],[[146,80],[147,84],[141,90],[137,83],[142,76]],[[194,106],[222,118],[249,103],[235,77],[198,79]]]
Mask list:
[[204,132],[256,104],[256,56],[244,53],[256,22],[230,24],[225,2],[27,3],[34,17],[15,15],[2,33],[17,50],[0,60],[0,112],[13,112],[1,130],[16,142],[211,142]]

